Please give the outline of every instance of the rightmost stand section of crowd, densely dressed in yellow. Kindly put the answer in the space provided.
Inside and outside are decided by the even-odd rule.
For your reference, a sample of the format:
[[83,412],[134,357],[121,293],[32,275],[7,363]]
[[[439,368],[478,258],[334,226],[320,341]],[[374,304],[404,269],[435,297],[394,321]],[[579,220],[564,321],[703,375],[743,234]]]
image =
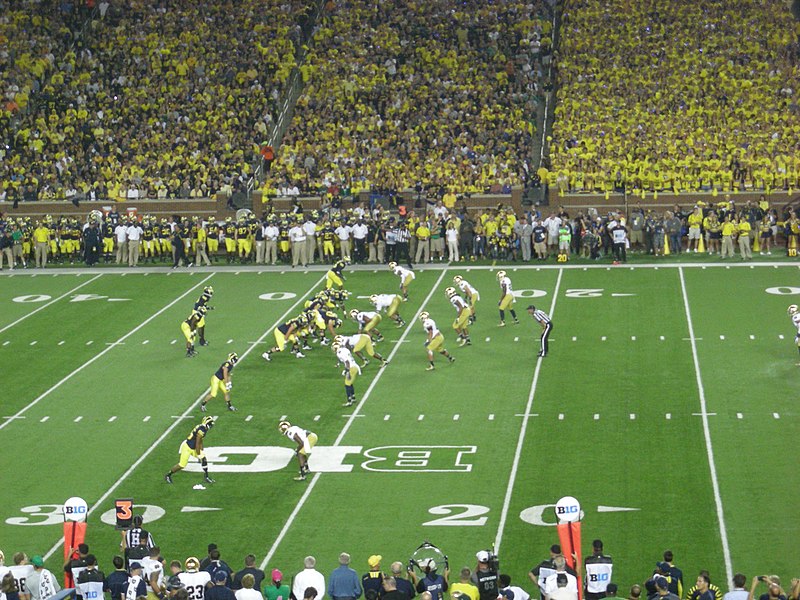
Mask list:
[[800,188],[799,52],[781,0],[567,3],[550,184]]

